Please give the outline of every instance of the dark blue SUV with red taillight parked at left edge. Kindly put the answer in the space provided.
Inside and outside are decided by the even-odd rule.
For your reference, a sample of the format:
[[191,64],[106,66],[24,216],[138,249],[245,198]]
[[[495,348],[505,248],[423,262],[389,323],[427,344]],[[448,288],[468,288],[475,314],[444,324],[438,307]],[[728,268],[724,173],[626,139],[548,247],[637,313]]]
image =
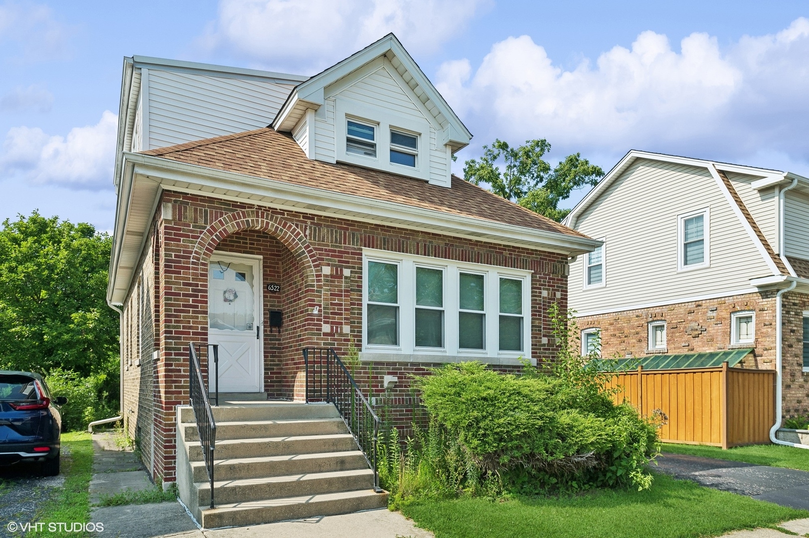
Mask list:
[[39,374],[0,370],[0,465],[40,462],[46,477],[59,474],[64,396],[51,397]]

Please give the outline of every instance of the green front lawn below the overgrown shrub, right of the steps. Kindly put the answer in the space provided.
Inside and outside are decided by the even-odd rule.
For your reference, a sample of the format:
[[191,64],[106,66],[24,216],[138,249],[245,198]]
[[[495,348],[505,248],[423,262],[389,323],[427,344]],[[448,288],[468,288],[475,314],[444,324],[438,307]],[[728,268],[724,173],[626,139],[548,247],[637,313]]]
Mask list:
[[[436,538],[673,538],[719,536],[809,517],[769,502],[655,474],[647,491],[597,491],[572,498],[506,502],[460,498],[405,506],[404,515]],[[786,535],[785,535],[786,536]]]

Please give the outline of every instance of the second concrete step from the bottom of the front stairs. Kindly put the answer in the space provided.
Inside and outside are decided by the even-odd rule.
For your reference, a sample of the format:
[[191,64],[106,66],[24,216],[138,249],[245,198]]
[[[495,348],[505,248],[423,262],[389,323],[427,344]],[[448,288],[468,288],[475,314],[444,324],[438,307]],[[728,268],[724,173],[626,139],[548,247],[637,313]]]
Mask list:
[[[210,505],[210,485],[200,482],[197,489],[199,506]],[[300,495],[333,494],[340,491],[373,489],[374,472],[369,468],[352,471],[311,472],[285,477],[244,478],[214,482],[214,502],[260,501],[262,499],[299,497]]]

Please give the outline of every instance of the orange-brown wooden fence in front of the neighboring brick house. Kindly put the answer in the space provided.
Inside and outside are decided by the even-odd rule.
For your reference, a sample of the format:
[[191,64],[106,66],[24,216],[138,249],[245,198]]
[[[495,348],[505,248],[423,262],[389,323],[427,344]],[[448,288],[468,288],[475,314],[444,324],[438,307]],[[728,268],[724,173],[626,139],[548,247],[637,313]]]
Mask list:
[[736,447],[769,443],[775,423],[775,371],[722,366],[621,372],[610,388],[642,415],[666,413],[663,443]]

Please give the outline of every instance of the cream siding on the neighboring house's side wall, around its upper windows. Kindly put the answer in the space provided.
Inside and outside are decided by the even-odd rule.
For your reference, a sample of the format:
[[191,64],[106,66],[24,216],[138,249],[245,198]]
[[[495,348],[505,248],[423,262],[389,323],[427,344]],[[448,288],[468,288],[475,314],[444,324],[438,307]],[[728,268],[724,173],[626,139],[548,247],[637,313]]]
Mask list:
[[[678,272],[678,216],[709,209],[710,267]],[[577,218],[576,229],[609,238],[609,286],[583,289],[586,255],[570,264],[578,315],[702,295],[752,290],[772,274],[705,168],[637,159]]]

